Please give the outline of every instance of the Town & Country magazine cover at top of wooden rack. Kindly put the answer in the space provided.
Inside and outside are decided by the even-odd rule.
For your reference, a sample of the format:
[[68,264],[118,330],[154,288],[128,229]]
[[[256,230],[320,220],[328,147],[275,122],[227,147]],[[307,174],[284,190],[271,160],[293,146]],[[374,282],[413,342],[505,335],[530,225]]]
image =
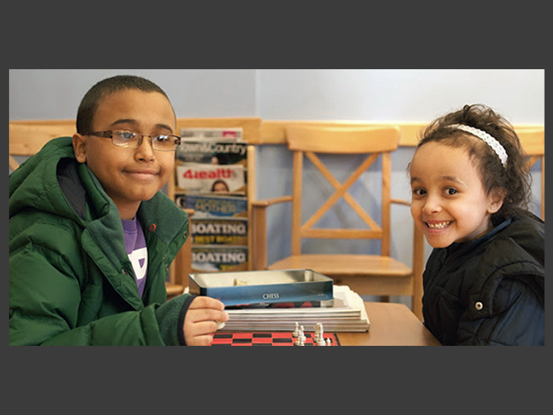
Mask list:
[[182,141],[177,147],[177,159],[185,163],[245,166],[247,144],[211,140]]

